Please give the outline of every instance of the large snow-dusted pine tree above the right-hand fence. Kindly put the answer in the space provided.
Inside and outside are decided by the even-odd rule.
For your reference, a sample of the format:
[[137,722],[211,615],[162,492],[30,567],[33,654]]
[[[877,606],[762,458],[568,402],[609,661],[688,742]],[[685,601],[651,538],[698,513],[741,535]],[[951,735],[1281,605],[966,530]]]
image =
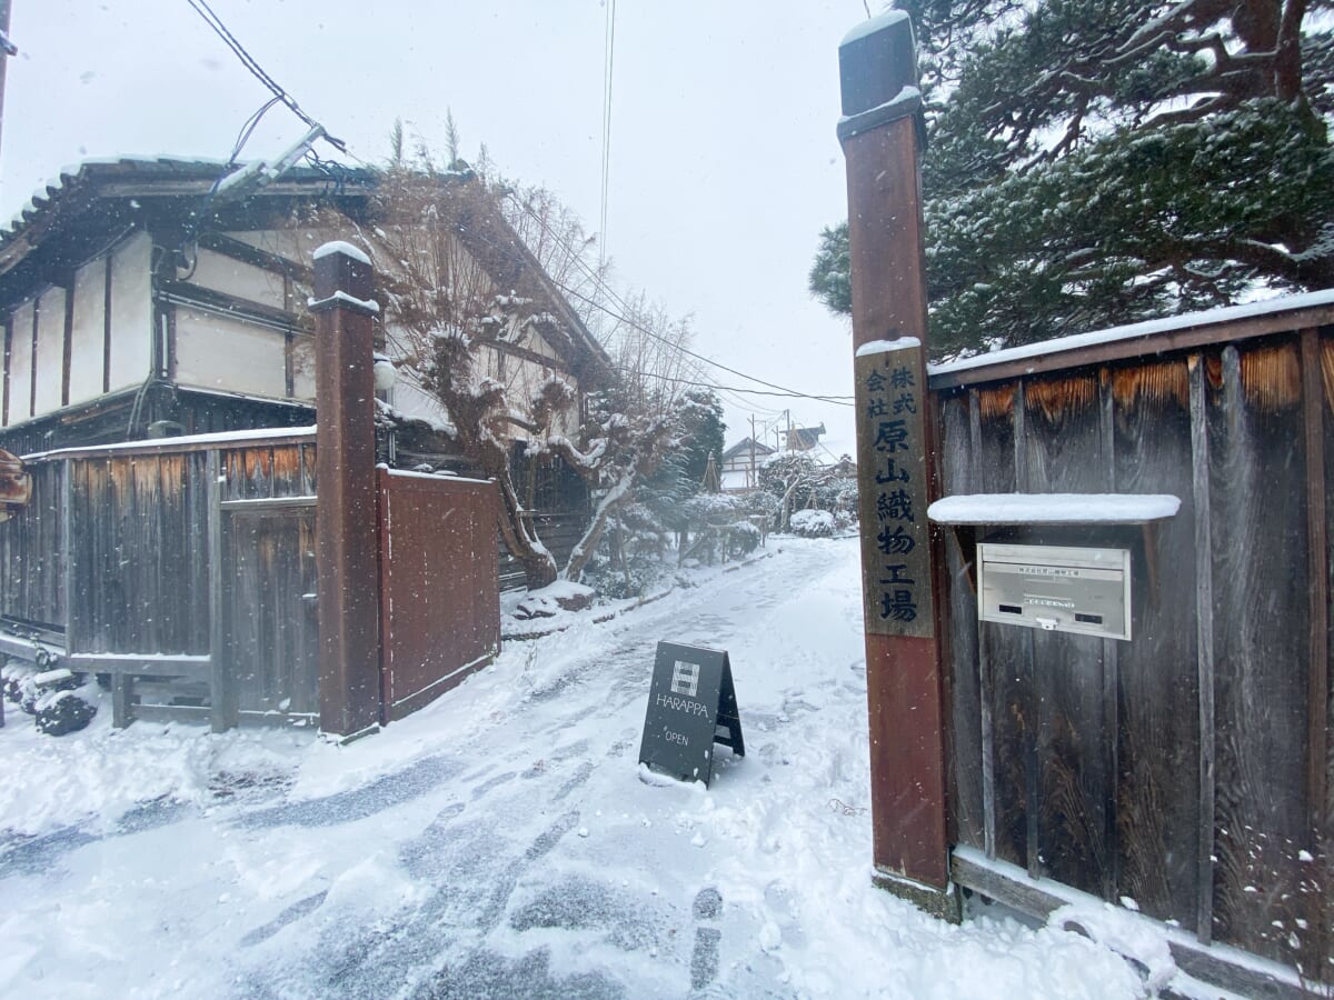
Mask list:
[[[1334,0],[900,0],[935,353],[1334,285]],[[811,291],[848,312],[847,227]]]

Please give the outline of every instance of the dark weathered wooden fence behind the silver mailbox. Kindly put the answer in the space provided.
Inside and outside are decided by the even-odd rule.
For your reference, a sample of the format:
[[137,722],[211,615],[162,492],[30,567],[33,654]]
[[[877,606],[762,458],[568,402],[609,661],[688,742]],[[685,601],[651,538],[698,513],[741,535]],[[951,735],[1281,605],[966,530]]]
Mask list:
[[932,373],[946,493],[1182,501],[1131,641],[979,621],[950,532],[948,801],[959,884],[1129,897],[1329,983],[1334,296],[1290,301]]

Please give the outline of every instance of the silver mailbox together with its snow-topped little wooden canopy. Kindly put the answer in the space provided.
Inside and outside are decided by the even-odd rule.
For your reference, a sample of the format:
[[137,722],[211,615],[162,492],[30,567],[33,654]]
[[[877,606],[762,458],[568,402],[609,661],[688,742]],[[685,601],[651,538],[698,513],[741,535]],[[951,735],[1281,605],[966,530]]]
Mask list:
[[982,621],[1130,639],[1137,555],[1153,580],[1151,527],[1179,508],[1161,493],[971,493],[927,515],[955,529]]

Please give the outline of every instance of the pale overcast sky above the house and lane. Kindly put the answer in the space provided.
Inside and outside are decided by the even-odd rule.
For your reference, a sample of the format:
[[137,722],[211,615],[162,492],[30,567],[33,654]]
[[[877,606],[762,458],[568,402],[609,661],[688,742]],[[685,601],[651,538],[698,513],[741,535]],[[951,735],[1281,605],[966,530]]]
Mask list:
[[[596,231],[606,7],[599,0],[209,0],[264,69],[366,161],[396,117],[464,157],[486,143]],[[879,11],[883,3],[872,3]],[[606,241],[622,291],[692,315],[695,349],[814,395],[851,393],[851,333],[810,299],[823,225],[844,217],[838,43],[862,0],[619,0]],[[187,0],[12,0],[0,216],[87,157],[225,159],[268,92]],[[244,156],[305,127],[275,108]],[[334,155],[321,147],[324,155]],[[714,371],[722,385],[746,384]],[[851,409],[723,393],[727,443],[750,416],[824,423]],[[768,437],[772,441],[772,435]],[[824,456],[828,457],[828,456]]]

